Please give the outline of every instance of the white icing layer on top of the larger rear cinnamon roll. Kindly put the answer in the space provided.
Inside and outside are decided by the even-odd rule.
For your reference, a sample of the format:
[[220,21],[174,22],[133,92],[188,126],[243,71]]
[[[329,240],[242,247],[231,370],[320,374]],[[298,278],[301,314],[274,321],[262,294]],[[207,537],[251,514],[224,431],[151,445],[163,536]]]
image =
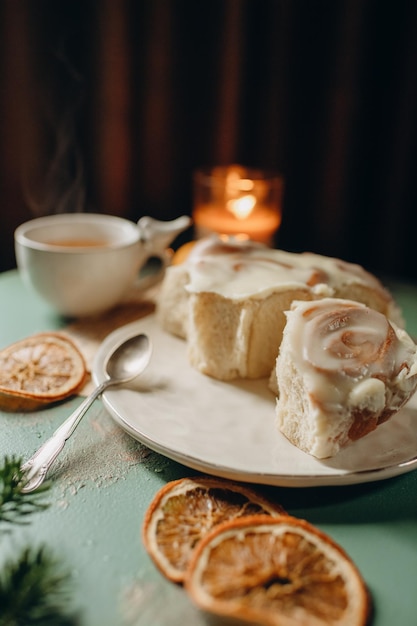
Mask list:
[[262,244],[222,240],[198,241],[186,263],[187,290],[215,292],[231,299],[264,298],[272,291],[307,289],[315,296],[334,295],[335,288],[366,284],[388,301],[380,282],[361,266],[309,252],[291,253]]

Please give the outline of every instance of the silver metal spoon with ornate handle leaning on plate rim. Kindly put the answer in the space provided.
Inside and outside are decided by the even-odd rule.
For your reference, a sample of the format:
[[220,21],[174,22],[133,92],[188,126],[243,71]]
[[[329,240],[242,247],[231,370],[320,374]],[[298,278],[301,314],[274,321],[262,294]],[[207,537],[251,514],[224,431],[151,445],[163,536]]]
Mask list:
[[109,354],[105,362],[105,380],[80,404],[54,434],[21,466],[25,473],[22,492],[37,489],[45,480],[49,468],[77,428],[94,400],[113,385],[123,385],[139,376],[151,358],[152,345],[147,335],[130,337]]

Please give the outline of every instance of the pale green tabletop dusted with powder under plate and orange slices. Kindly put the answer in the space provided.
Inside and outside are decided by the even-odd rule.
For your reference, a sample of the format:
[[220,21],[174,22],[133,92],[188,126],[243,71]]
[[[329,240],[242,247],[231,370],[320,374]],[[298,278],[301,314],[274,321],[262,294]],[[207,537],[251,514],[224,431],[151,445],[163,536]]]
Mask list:
[[[389,284],[417,335],[417,288]],[[21,282],[0,275],[0,347],[62,328]],[[0,413],[0,454],[30,456],[81,402],[31,414]],[[50,507],[10,538],[0,564],[20,545],[47,545],[71,573],[71,610],[80,626],[203,626],[184,590],[163,578],[141,540],[145,510],[167,481],[195,472],[131,439],[97,400],[53,473]],[[417,472],[353,486],[259,489],[327,532],[353,558],[372,593],[376,626],[417,624]],[[1,614],[1,607],[0,607]]]

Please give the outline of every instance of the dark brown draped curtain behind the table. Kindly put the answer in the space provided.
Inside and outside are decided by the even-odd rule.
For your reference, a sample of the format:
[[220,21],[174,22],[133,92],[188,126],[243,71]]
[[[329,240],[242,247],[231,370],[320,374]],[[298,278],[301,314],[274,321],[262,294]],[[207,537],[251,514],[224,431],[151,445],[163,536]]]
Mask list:
[[0,269],[34,216],[191,213],[283,173],[276,244],[417,280],[417,2],[2,0]]

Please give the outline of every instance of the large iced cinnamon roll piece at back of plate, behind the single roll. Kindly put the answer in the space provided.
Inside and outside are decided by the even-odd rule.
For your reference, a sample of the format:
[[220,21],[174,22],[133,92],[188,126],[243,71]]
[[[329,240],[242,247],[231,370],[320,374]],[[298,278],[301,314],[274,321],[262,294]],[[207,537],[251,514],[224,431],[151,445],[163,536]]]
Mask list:
[[390,293],[359,265],[251,241],[207,237],[167,269],[158,316],[187,340],[191,364],[221,380],[268,377],[293,300],[363,302],[402,324]]

